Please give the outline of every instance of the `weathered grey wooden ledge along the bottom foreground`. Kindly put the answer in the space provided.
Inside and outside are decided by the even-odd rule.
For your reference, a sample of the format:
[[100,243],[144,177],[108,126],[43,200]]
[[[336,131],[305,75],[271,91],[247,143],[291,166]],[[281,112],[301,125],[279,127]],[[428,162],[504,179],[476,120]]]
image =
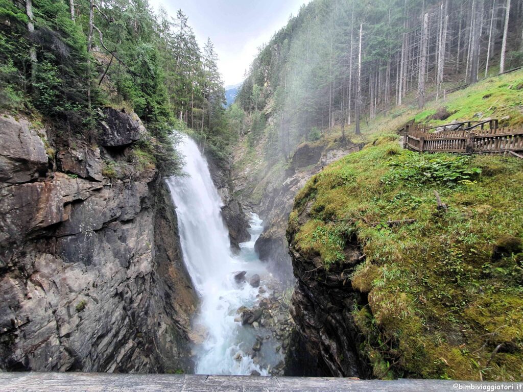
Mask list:
[[[484,389],[481,389],[482,387],[480,387],[480,385]],[[446,392],[456,390],[497,390],[495,385],[501,386],[500,390],[523,390],[523,383],[479,383],[419,379],[380,381],[325,377],[253,377],[122,373],[0,373],[0,390],[2,392]]]

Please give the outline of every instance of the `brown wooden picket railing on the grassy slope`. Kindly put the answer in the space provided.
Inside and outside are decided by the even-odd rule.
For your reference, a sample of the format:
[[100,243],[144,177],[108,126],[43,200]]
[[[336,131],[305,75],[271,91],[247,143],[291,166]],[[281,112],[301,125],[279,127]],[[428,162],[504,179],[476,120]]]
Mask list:
[[523,151],[523,128],[457,129],[428,132],[410,128],[403,146],[419,152],[499,154]]

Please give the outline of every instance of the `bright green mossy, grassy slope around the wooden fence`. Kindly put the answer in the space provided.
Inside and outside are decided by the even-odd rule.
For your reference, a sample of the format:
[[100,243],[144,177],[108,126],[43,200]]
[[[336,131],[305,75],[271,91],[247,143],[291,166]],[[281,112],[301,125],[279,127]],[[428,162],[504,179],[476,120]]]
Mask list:
[[[519,124],[523,90],[509,87],[520,83],[523,73],[486,80],[449,97],[448,109],[462,118],[489,113],[492,98]],[[345,240],[357,236],[367,257],[351,281],[369,304],[353,314],[376,377],[521,381],[523,163],[416,154],[382,132],[367,134],[376,145],[328,166],[297,195],[295,248],[319,254],[328,268],[344,262]],[[436,209],[434,190],[447,212]],[[310,220],[299,226],[308,200]],[[384,224],[407,218],[416,222]]]

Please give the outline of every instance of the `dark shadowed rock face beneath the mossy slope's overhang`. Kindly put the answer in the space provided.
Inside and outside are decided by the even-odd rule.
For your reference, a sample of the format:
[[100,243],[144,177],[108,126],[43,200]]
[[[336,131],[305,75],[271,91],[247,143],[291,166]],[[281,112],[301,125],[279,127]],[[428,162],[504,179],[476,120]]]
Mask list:
[[[311,205],[312,201],[307,202],[298,216],[300,225],[308,221]],[[287,234],[297,279],[290,306],[297,329],[295,346],[306,351],[303,358],[315,364],[315,372],[335,377],[370,378],[371,367],[359,350],[365,337],[351,313],[356,304],[367,303],[367,296],[354,290],[349,280],[362,256],[357,241],[349,241],[345,248],[347,262],[343,267],[335,264],[325,269],[319,256],[300,254],[295,247],[292,225]],[[300,359],[294,362],[299,363]]]

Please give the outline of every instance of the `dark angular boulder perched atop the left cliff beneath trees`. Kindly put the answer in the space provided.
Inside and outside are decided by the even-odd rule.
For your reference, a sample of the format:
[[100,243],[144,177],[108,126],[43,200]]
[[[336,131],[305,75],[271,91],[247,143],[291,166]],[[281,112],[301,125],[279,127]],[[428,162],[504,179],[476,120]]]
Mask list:
[[112,108],[104,109],[104,120],[99,124],[99,145],[117,147],[131,144],[140,139],[143,125],[128,113]]

